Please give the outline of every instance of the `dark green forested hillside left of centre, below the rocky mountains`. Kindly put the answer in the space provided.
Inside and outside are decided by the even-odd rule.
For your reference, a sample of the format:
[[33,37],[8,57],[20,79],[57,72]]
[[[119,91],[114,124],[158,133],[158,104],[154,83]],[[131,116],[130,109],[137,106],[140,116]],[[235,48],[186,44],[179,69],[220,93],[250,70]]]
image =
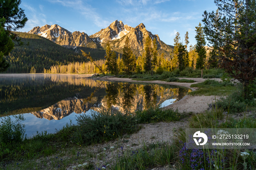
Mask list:
[[[29,45],[15,47],[5,59],[10,67],[5,73],[43,73],[44,69],[50,69],[55,65],[68,65],[74,62],[87,62],[82,54],[75,52],[76,49],[68,49],[63,46],[35,34],[16,32],[22,41]],[[93,57],[101,58],[105,50],[91,50],[83,47],[84,51],[90,51]],[[77,50],[78,51],[78,50]],[[80,50],[79,50],[80,51]]]

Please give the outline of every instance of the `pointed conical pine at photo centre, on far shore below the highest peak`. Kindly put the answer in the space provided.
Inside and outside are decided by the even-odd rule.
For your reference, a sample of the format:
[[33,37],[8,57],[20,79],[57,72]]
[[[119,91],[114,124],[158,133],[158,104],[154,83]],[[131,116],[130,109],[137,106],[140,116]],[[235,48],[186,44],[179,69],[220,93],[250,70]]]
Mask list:
[[132,61],[133,61],[132,55],[133,55],[132,49],[129,46],[129,38],[128,38],[128,36],[126,36],[126,39],[125,39],[125,42],[124,42],[124,47],[123,47],[122,60],[123,60],[123,63],[124,63],[124,71],[127,74],[131,74],[131,72],[132,72],[132,67],[133,67],[133,65],[132,65]]

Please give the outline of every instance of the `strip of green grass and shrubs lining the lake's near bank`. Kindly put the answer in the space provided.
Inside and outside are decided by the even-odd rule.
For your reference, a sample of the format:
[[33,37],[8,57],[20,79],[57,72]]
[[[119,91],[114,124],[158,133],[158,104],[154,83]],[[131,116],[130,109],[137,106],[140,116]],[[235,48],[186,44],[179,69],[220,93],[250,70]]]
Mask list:
[[[172,109],[149,108],[133,113],[129,111],[111,113],[102,110],[91,116],[79,116],[77,125],[72,124],[72,122],[66,124],[56,134],[48,134],[45,131],[30,139],[24,136],[25,127],[21,124],[22,116],[17,117],[17,121],[11,121],[7,118],[7,120],[2,120],[5,124],[0,126],[0,167],[7,166],[10,161],[17,162],[19,165],[20,162],[26,164],[26,161],[22,160],[51,157],[51,155],[56,155],[72,147],[75,149],[71,154],[75,155],[80,147],[119,139],[123,135],[132,134],[141,128],[140,123],[178,121],[181,118],[181,114]],[[54,162],[53,160],[52,162]],[[67,166],[64,164],[69,165],[71,163],[66,161],[63,159],[61,162],[65,168]],[[43,164],[41,163],[39,166],[43,166]]]

